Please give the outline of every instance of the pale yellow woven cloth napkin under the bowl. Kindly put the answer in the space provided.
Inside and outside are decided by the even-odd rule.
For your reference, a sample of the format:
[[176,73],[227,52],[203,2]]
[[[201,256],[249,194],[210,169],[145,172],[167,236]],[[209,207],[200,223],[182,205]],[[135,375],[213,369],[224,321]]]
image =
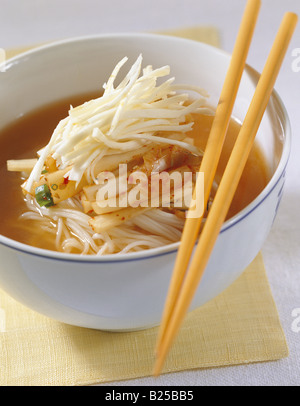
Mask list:
[[[209,27],[177,33],[218,45],[218,32]],[[149,376],[157,333],[157,328],[109,333],[69,326],[27,309],[0,290],[0,385],[87,385]],[[259,254],[225,292],[187,315],[163,373],[287,355]]]

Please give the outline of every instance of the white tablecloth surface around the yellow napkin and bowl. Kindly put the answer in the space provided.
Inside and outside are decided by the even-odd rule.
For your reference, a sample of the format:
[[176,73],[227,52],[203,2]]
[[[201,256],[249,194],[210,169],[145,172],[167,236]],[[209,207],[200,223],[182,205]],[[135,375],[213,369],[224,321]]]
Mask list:
[[[0,48],[79,35],[213,25],[231,52],[246,0],[0,0]],[[248,63],[261,71],[286,11],[300,16],[300,0],[262,0]],[[285,194],[263,246],[265,266],[290,355],[275,362],[194,370],[110,385],[300,385],[300,71],[294,72],[300,23],[276,89],[289,112],[293,145]],[[300,70],[300,60],[297,64]],[[297,318],[298,317],[298,318]]]

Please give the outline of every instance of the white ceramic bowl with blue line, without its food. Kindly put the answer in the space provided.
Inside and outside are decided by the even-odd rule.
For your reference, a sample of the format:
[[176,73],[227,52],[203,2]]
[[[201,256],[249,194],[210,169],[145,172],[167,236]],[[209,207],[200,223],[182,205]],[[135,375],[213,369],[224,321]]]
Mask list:
[[[58,42],[7,61],[0,73],[0,128],[41,105],[99,88],[122,57],[130,63],[140,53],[145,65],[170,65],[178,83],[205,88],[217,103],[230,60],[225,52],[175,37],[101,35]],[[258,77],[247,67],[233,113],[239,120]],[[260,251],[282,195],[290,137],[287,113],[274,92],[257,135],[271,181],[224,224],[191,309],[227,288]],[[160,322],[177,248],[172,244],[97,258],[0,236],[0,286],[24,305],[65,323],[116,331],[147,328]]]

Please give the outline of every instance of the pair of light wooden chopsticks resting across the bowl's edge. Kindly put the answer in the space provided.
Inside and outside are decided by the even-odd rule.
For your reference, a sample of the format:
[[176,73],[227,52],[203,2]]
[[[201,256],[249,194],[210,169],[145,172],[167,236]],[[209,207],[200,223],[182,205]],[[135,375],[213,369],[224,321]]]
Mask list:
[[[200,172],[204,172],[205,204],[208,201],[238,87],[245,68],[260,4],[260,0],[248,0],[246,5],[201,163]],[[155,376],[161,372],[167,353],[197,290],[216,239],[225,221],[288,45],[295,30],[297,20],[298,17],[294,13],[286,13],[282,20],[244,123],[242,124],[232,149],[213,204],[199,236],[199,241],[192,259],[190,257],[199,234],[202,217],[189,217],[188,213],[158,334],[156,363],[153,372]],[[195,190],[197,187],[199,187],[199,185],[196,184]],[[194,196],[195,195],[196,193]],[[190,208],[190,210],[191,209],[192,208]],[[189,263],[190,265],[188,267]]]

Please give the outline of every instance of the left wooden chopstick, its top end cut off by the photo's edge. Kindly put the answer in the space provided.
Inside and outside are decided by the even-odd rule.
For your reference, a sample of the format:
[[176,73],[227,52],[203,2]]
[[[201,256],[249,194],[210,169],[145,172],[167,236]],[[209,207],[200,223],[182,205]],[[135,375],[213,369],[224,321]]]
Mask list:
[[[261,6],[260,0],[248,0],[243,18],[238,31],[237,39],[234,45],[231,61],[226,73],[224,85],[220,94],[219,103],[216,109],[215,118],[209,134],[204,156],[201,162],[199,172],[204,176],[204,207],[206,207],[210,190],[214,181],[218,162],[220,159],[223,143],[225,140],[228,125],[231,119],[232,110],[242,74],[245,68],[247,55],[249,52],[254,28],[258,18]],[[200,176],[198,182],[200,183]],[[197,190],[200,190],[199,183],[196,183],[193,202],[196,201]],[[169,286],[169,292],[165,303],[165,309],[162,315],[159,335],[157,340],[156,353],[159,353],[159,346],[163,340],[166,326],[169,322],[170,315],[174,309],[177,296],[184,279],[186,269],[192,250],[196,243],[203,216],[190,216],[193,207],[190,208],[184,229],[182,232],[181,242],[175,261],[175,266]]]

